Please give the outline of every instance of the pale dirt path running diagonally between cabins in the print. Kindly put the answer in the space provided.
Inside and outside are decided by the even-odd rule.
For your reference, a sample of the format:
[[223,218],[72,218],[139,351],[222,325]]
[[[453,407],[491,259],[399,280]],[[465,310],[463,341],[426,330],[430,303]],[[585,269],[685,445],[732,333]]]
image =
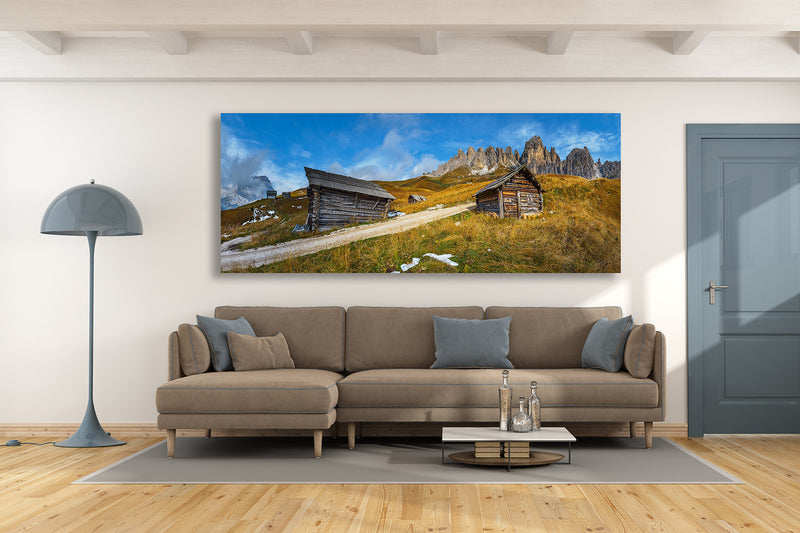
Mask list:
[[233,268],[246,268],[250,266],[268,265],[290,257],[313,254],[328,248],[336,248],[354,241],[398,233],[423,224],[447,218],[458,213],[474,208],[474,203],[460,204],[452,207],[442,207],[410,215],[334,231],[319,237],[308,237],[294,241],[282,242],[273,246],[252,248],[250,250],[234,250],[233,248],[250,237],[239,237],[222,243],[220,246],[220,269],[222,271]]

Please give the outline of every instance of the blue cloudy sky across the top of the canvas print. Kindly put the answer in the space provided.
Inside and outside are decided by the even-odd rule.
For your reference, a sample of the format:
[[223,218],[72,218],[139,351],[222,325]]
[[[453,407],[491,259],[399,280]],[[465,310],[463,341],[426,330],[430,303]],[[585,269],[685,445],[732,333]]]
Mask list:
[[305,187],[304,166],[370,180],[431,172],[461,148],[522,149],[534,135],[563,160],[589,148],[620,160],[618,113],[223,113],[221,193],[253,201],[269,177],[280,193]]

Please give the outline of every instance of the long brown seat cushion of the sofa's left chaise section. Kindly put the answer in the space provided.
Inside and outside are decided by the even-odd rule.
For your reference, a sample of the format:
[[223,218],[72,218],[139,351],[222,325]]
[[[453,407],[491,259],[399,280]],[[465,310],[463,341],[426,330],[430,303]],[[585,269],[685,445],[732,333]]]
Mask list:
[[336,406],[341,378],[311,369],[207,372],[160,386],[156,408],[171,414],[324,414]]

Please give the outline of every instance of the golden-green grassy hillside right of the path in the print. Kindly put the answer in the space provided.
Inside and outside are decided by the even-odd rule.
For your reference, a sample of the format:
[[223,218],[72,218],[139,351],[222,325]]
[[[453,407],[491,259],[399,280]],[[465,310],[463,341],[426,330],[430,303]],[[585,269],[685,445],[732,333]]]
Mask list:
[[[413,185],[381,185],[398,198],[393,209],[413,212],[437,203],[470,201],[472,194],[493,178],[481,176],[479,182],[473,181],[479,179],[477,176],[445,175],[415,178]],[[619,272],[620,180],[552,174],[537,178],[545,190],[544,209],[529,219],[498,219],[469,211],[402,233],[243,271],[397,272],[402,265],[419,258],[418,264],[407,269],[408,273]],[[422,194],[428,200],[408,204],[409,194]],[[452,254],[450,260],[457,266],[426,253]]]

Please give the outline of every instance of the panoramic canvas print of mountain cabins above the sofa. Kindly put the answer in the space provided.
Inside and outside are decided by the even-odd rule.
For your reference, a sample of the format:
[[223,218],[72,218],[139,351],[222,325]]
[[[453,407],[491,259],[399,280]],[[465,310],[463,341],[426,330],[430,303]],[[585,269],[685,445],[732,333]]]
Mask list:
[[620,271],[618,113],[224,113],[222,272]]

